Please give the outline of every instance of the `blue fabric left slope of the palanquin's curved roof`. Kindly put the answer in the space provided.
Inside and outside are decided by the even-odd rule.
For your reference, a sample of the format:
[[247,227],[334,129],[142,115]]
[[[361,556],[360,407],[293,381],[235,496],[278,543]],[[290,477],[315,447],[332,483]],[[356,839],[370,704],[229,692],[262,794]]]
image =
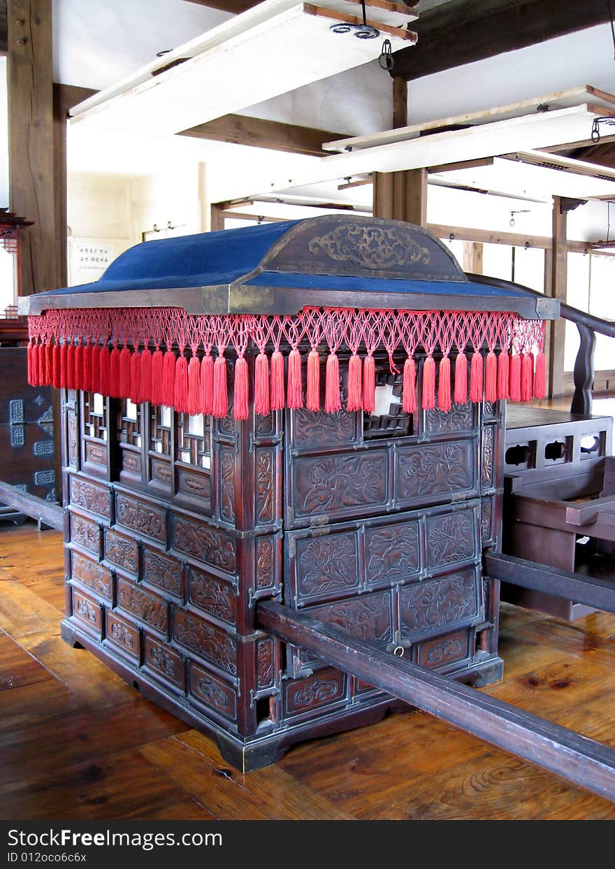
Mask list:
[[263,223],[177,238],[161,238],[129,248],[100,280],[52,290],[50,295],[106,293],[114,289],[213,287],[251,272],[268,249],[301,221]]

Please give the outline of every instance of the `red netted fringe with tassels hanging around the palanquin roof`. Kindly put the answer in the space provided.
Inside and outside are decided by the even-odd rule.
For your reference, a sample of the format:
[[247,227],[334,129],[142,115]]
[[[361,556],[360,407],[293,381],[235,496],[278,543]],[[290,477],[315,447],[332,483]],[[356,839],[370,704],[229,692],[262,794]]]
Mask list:
[[[340,348],[350,353],[346,406],[351,411],[374,411],[374,355],[386,352],[390,371],[397,374],[393,357],[400,348],[407,355],[402,392],[407,413],[417,405],[414,355],[418,353],[427,356],[420,390],[423,408],[436,404],[436,368],[437,405],[445,411],[450,408],[453,349],[457,351],[456,403],[468,398],[466,348],[472,350],[471,401],[496,401],[508,395],[515,401],[529,401],[532,395],[545,395],[544,323],[524,321],[508,312],[304,308],[298,315],[268,316],[187,315],[179,308],[89,308],[30,316],[29,326],[31,383],[181,406],[191,414],[228,413],[227,348],[243,360],[239,374],[235,373],[233,403],[235,415],[244,413],[244,387],[248,386],[248,397],[251,389],[243,357],[250,343],[260,351],[255,359],[254,401],[255,412],[261,415],[285,406],[302,407],[301,342],[311,348],[305,382],[308,410],[321,408],[319,350],[323,345],[328,349],[327,413],[341,407]],[[288,346],[290,350],[284,351]],[[179,359],[175,348],[180,349]],[[183,355],[186,348],[192,350],[189,364]],[[217,355],[212,354],[214,348]],[[284,355],[288,355],[286,382]]]

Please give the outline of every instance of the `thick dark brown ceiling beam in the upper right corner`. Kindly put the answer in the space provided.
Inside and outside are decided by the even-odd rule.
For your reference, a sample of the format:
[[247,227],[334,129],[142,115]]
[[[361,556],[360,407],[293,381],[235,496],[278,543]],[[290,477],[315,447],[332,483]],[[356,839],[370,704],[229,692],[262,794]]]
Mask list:
[[411,81],[607,21],[605,0],[450,0],[413,23],[419,41],[395,52],[391,75]]

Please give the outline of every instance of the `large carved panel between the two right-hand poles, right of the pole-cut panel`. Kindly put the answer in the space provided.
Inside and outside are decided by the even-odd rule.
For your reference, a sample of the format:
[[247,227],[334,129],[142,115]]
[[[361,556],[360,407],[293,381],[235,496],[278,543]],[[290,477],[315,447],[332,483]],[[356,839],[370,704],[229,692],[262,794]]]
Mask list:
[[413,640],[446,625],[468,623],[479,614],[480,585],[473,568],[400,588],[403,640]]

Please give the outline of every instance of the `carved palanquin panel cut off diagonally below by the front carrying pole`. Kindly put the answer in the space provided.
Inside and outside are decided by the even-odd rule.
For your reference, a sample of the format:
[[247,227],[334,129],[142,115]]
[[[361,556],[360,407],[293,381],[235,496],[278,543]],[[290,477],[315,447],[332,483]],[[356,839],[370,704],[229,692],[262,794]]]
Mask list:
[[309,607],[306,612],[357,640],[384,644],[393,640],[391,592],[361,594],[323,607]]

